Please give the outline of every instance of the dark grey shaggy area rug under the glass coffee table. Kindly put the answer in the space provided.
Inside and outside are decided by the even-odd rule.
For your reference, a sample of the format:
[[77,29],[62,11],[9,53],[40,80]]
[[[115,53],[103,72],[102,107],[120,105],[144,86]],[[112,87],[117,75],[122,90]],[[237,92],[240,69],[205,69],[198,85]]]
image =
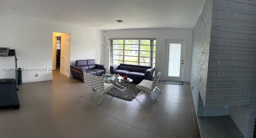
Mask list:
[[[112,84],[114,84],[114,86],[116,86],[117,88],[120,88],[120,89],[124,89],[120,86],[118,86],[114,81],[110,81]],[[108,82],[106,82],[108,83]],[[125,90],[121,91],[121,90],[118,90],[116,88],[112,88],[110,89],[106,94],[109,94],[109,95],[112,95],[112,96],[115,96],[115,97],[118,97],[118,98],[122,98],[124,100],[133,100],[134,99],[134,96],[136,96],[139,92],[140,92],[140,89],[136,88],[136,83],[134,82],[118,82],[118,84],[126,87]]]

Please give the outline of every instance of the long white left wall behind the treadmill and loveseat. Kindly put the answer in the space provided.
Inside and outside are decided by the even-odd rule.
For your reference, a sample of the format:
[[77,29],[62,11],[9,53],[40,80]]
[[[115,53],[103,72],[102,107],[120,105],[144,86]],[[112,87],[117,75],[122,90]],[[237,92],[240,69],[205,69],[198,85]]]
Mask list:
[[[70,64],[75,60],[100,62],[102,31],[20,16],[0,15],[0,47],[16,49],[18,67],[52,67],[52,32],[70,33]],[[0,68],[14,67],[14,58],[0,57]],[[36,72],[38,77],[35,76]],[[52,80],[51,71],[24,71],[23,82]],[[0,70],[0,78],[14,78],[14,72]]]

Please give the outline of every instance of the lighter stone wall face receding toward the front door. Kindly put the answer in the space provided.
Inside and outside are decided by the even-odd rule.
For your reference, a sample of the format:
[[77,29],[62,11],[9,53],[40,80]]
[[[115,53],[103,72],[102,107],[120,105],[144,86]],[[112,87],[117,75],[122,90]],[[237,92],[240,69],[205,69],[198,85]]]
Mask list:
[[[190,86],[192,88],[193,100],[198,112],[199,92],[202,99],[206,97],[206,84],[208,73],[208,59],[210,50],[210,35],[212,24],[213,0],[206,0],[202,13],[193,30],[192,66],[190,75]],[[205,102],[203,100],[203,102]]]

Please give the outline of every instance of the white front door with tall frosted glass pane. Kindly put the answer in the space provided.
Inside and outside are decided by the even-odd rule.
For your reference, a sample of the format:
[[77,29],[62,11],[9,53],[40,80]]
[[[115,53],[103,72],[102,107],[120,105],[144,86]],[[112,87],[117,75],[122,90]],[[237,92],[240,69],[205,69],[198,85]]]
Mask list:
[[184,81],[185,40],[166,40],[165,80]]

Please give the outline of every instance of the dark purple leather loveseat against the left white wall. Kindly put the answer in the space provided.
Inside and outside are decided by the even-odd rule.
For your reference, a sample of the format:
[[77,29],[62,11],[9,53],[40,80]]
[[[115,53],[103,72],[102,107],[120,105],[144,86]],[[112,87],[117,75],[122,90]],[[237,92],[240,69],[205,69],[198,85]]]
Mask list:
[[106,66],[95,64],[95,60],[76,60],[76,65],[71,65],[70,71],[74,78],[84,80],[84,72],[96,76],[102,76],[102,74],[106,73]]

